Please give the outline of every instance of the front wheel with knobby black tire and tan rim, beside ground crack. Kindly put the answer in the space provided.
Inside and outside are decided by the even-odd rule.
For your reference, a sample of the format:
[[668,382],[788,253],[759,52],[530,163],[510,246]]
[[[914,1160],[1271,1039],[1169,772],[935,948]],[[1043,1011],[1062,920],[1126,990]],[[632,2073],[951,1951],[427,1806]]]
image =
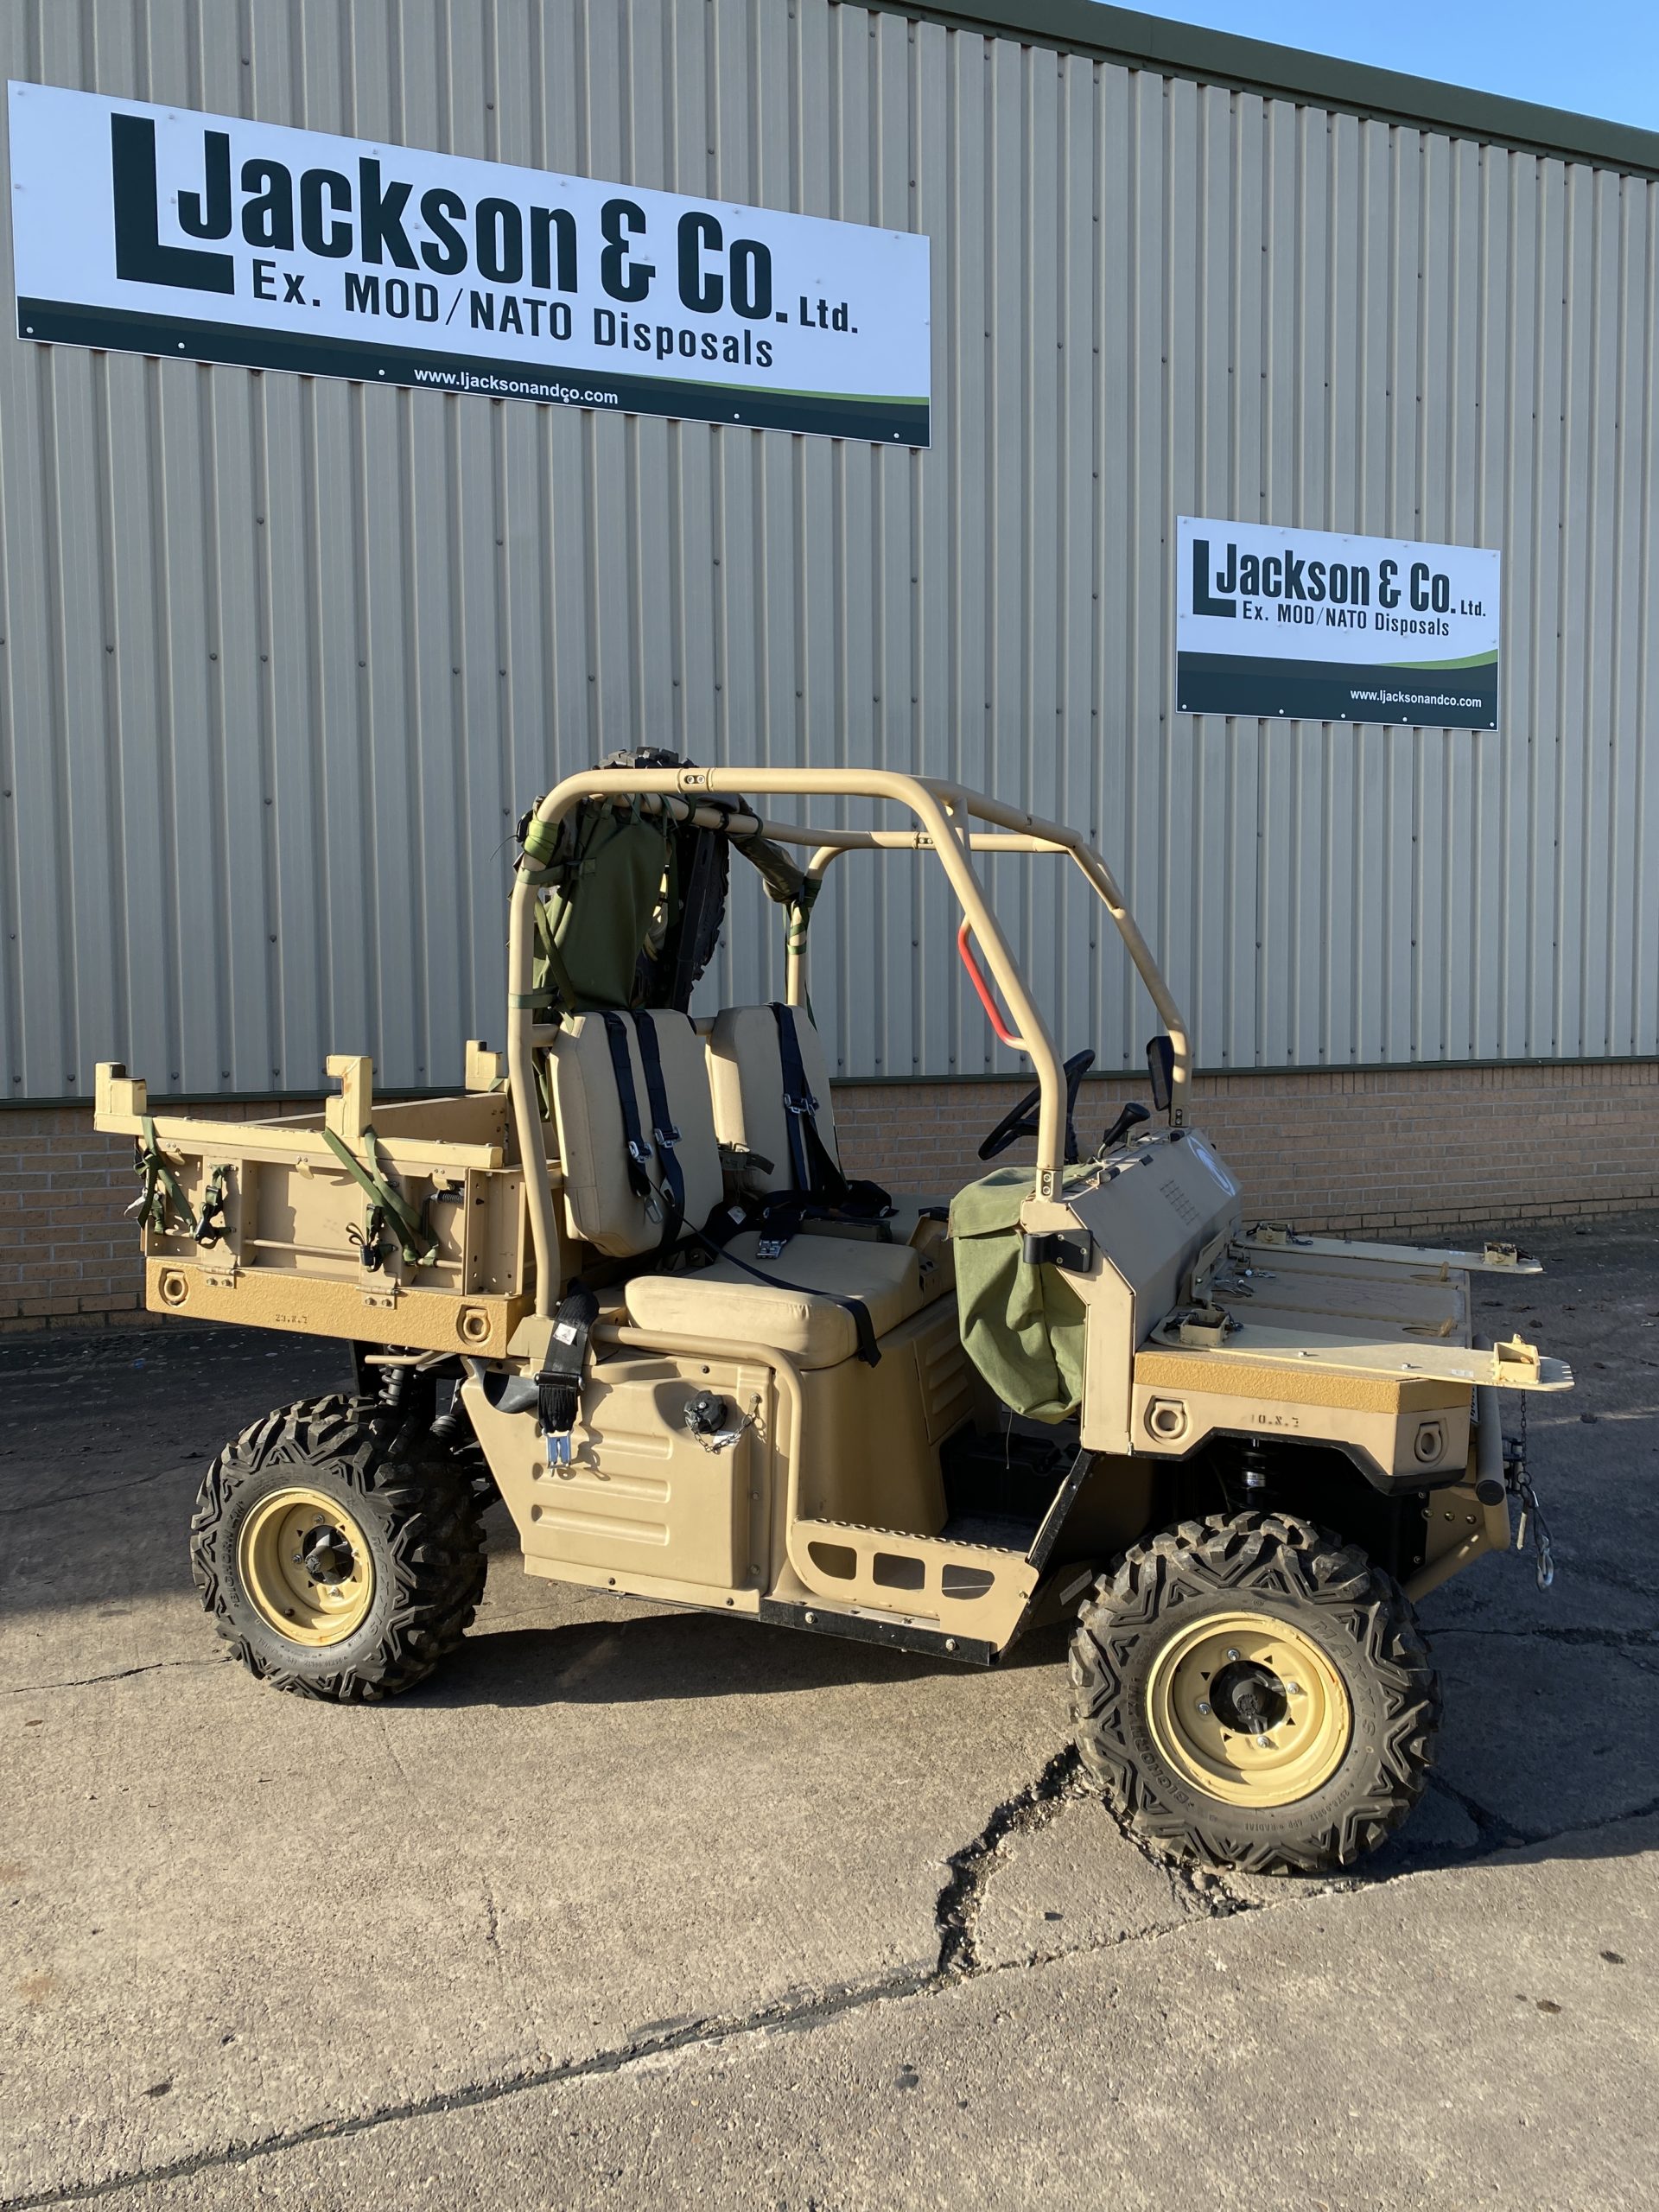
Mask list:
[[1130,1832],[1252,1874],[1374,1849],[1422,1794],[1440,1725],[1400,1584],[1287,1513],[1137,1544],[1082,1608],[1071,1679],[1084,1765]]

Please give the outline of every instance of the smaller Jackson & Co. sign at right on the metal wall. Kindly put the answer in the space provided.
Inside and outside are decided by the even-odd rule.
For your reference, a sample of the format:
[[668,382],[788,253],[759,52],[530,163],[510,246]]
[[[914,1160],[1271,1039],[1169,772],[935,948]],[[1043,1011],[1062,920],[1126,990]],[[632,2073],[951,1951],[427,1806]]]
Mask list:
[[1498,728],[1498,553],[1194,515],[1175,549],[1179,712]]

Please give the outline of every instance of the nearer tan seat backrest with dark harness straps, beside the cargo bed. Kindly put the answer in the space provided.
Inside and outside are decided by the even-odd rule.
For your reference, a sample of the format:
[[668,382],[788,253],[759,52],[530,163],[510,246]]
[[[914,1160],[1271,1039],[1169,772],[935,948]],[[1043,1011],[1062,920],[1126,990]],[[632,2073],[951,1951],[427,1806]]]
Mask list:
[[[650,1022],[657,1035],[664,1093],[679,1130],[675,1159],[686,1181],[686,1221],[701,1228],[721,1199],[721,1155],[708,1097],[703,1042],[684,1013],[624,1013],[619,1022],[628,1046],[635,1119],[650,1152],[644,1166],[653,1194],[664,1188],[664,1164],[653,1141],[650,1091],[639,1057],[637,1022]],[[664,1232],[664,1201],[655,1197],[657,1217],[653,1219],[653,1201],[637,1194],[628,1179],[622,1091],[604,1015],[577,1013],[566,1020],[553,1040],[549,1060],[560,1168],[564,1172],[564,1219],[571,1234],[613,1259],[655,1252]]]

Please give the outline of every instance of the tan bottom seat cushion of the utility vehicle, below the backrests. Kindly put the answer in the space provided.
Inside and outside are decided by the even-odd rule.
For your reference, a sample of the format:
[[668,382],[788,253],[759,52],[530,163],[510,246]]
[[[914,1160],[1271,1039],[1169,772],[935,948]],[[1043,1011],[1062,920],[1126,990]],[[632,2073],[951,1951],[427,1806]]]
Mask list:
[[814,1292],[860,1298],[885,1336],[947,1287],[945,1270],[911,1245],[794,1237],[779,1259],[759,1259],[757,1241],[734,1237],[728,1250],[799,1287],[757,1283],[726,1259],[690,1274],[637,1274],[626,1285],[628,1321],[664,1336],[772,1345],[799,1367],[838,1367],[858,1349],[858,1332],[843,1305]]

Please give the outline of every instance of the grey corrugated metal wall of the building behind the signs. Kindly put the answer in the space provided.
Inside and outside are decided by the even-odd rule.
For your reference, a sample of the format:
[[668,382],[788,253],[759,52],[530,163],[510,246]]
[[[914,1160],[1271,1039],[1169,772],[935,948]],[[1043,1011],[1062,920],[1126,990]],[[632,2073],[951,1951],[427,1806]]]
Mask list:
[[[936,332],[925,456],[0,336],[7,1097],[453,1079],[518,810],[641,741],[1088,825],[1208,1066],[1659,1048],[1659,186],[830,0],[11,0],[0,60],[927,230]],[[1500,544],[1502,728],[1177,717],[1177,511]],[[1133,1064],[1079,887],[995,889]],[[845,1073],[1002,1064],[949,920],[841,863]]]

